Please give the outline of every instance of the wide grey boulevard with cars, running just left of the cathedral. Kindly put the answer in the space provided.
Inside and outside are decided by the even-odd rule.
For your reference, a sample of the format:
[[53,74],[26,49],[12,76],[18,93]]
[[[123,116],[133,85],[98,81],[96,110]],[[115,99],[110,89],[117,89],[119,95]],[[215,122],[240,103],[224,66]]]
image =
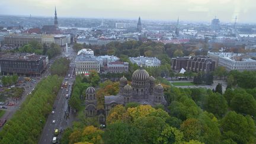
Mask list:
[[[49,114],[47,117],[47,121],[43,127],[43,132],[41,133],[41,137],[39,140],[40,144],[45,143],[52,143],[53,137],[57,137],[57,140],[61,137],[62,130],[66,129],[66,127],[71,126],[72,124],[72,114],[69,111],[68,108],[68,100],[69,98],[66,98],[66,94],[71,95],[71,87],[73,85],[73,82],[75,81],[75,65],[74,60],[76,53],[73,52],[73,49],[69,49],[69,58],[72,58],[71,65],[69,67],[68,74],[71,76],[68,77],[68,74],[65,76],[65,79],[63,80],[63,84],[68,81],[68,87],[60,89],[60,91],[57,94],[57,98],[55,100],[55,103],[53,104],[53,111],[55,111],[54,114]],[[63,53],[65,55],[65,53]],[[68,90],[67,90],[68,89]],[[67,117],[69,114],[69,117]],[[55,123],[53,123],[53,120],[56,120]],[[55,129],[59,130],[59,135],[54,135]]]

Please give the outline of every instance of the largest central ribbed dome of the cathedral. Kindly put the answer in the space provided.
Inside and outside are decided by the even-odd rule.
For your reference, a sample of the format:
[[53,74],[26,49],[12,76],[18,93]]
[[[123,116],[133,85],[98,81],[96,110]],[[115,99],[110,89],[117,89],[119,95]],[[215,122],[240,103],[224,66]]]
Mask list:
[[133,72],[132,81],[143,82],[148,81],[148,79],[149,73],[145,69],[140,68]]

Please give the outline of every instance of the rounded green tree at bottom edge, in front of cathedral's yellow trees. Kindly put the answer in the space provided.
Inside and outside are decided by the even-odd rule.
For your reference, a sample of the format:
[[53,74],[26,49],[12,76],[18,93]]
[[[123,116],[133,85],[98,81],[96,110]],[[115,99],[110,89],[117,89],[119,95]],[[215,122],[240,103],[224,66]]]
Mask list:
[[141,143],[141,132],[128,123],[112,123],[103,134],[104,143]]

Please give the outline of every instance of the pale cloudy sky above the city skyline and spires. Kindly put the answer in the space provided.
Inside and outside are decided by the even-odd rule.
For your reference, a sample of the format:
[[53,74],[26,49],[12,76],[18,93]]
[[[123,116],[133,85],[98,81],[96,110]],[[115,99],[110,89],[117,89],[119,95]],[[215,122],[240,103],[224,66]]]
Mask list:
[[0,14],[256,23],[255,0],[0,0]]

